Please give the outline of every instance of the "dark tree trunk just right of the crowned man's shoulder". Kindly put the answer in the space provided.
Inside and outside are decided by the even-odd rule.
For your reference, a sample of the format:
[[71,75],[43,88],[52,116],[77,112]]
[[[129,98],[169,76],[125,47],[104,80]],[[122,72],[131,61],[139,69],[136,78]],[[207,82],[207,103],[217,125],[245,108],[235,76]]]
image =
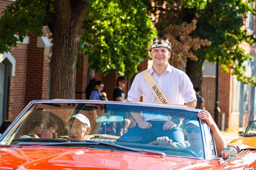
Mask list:
[[203,67],[204,61],[192,61],[187,59],[186,74],[189,76],[194,88],[202,87]]

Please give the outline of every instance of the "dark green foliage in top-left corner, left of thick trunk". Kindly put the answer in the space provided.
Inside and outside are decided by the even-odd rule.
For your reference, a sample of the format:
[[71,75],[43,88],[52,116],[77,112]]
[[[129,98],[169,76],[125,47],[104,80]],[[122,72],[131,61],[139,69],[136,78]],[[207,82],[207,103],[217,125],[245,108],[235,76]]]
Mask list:
[[22,42],[28,32],[42,34],[42,26],[47,25],[46,1],[17,0],[7,6],[0,20],[0,52],[8,51],[9,46]]

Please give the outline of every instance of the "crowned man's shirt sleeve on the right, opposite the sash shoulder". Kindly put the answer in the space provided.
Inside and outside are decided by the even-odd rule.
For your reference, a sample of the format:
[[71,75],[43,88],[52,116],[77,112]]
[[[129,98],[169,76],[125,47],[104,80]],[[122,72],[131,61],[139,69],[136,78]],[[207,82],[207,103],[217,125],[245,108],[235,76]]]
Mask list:
[[194,100],[197,101],[192,82],[184,72],[182,76],[180,76],[179,88],[180,88],[181,96],[183,96],[185,103],[193,102]]

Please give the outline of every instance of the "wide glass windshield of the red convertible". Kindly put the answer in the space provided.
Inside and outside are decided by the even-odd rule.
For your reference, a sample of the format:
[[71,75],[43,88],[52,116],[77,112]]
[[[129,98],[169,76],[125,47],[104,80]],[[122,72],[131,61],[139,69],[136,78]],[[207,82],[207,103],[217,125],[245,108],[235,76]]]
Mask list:
[[[130,152],[127,148],[133,148],[204,158],[201,123],[191,110],[129,102],[35,102],[1,137],[0,144]],[[178,126],[172,128],[170,120]]]

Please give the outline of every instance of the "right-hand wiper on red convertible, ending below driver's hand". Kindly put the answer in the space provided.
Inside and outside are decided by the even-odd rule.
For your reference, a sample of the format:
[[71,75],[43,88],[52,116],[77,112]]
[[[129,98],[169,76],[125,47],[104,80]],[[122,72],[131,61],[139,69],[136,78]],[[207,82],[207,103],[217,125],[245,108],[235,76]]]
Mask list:
[[159,152],[159,151],[154,151],[154,150],[145,150],[145,149],[138,149],[138,148],[133,148],[133,147],[126,147],[126,146],[122,146],[122,145],[119,145],[119,144],[102,142],[102,141],[93,141],[93,140],[85,140],[85,141],[87,141],[87,142],[95,142],[95,143],[99,143],[99,144],[105,144],[105,145],[108,145],[108,146],[119,147],[119,148],[123,148],[123,149],[127,149],[127,150],[133,150],[133,151],[141,152],[141,153],[148,153],[148,154],[151,154],[151,155],[159,155],[159,156],[161,156],[163,158],[166,157],[165,153]]

